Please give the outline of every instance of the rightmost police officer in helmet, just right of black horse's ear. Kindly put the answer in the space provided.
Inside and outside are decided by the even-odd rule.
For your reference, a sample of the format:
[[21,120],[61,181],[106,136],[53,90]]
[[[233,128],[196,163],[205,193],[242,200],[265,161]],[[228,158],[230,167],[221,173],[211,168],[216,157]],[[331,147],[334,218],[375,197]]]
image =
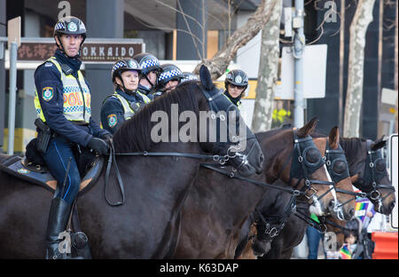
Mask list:
[[244,96],[244,91],[248,86],[248,77],[246,73],[239,69],[231,70],[227,73],[226,79],[224,80],[224,95],[227,99],[241,109],[241,97]]

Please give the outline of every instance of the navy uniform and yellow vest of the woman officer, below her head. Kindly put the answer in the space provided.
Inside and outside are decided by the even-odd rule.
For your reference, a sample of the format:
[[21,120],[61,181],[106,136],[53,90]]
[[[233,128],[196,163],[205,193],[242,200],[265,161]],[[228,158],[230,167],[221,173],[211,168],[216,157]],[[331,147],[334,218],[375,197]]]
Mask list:
[[101,125],[113,134],[122,123],[150,101],[151,99],[148,96],[138,90],[128,94],[118,87],[115,93],[109,95],[103,102]]

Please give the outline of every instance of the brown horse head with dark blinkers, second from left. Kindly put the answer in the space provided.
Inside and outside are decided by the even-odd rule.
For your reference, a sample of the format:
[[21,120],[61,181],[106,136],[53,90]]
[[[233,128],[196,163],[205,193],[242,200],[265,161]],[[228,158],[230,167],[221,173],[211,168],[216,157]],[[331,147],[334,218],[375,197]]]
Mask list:
[[268,139],[262,140],[266,161],[266,181],[273,183],[280,178],[307,198],[310,211],[324,215],[334,205],[333,183],[325,168],[321,152],[323,141],[309,135],[317,126],[313,118],[299,130],[283,129]]

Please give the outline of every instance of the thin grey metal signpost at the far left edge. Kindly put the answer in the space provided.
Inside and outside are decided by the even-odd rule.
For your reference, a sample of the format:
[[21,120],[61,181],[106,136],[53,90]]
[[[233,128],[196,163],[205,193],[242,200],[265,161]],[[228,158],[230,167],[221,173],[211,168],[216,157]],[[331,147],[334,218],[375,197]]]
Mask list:
[[15,99],[17,91],[17,43],[11,43],[10,48],[10,98],[8,100],[7,154],[14,154]]

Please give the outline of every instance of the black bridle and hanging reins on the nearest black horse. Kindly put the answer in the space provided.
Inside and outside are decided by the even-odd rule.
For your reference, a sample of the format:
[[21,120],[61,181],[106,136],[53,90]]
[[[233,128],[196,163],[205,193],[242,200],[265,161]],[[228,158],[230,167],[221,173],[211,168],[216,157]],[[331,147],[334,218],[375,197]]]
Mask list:
[[[200,90],[202,91],[202,93],[205,95],[207,102],[209,104],[209,108],[211,109],[212,112],[214,112],[215,114],[220,111],[220,110],[231,110],[235,107],[230,101],[228,101],[227,99],[225,99],[224,97],[221,97],[223,94],[222,93],[217,92],[215,93],[214,96],[211,95],[212,91],[207,91],[202,85],[200,86]],[[215,92],[216,89],[214,89]],[[227,104],[226,107],[226,103],[230,103]],[[231,107],[234,106],[234,107]],[[226,109],[224,109],[226,108]],[[213,114],[213,115],[215,115]],[[218,120],[219,117],[217,116],[211,116],[211,119],[213,120]],[[223,119],[220,119],[223,120]],[[251,135],[246,136],[245,139],[253,139],[255,138],[254,134],[252,132],[250,132]],[[239,139],[237,139],[237,144],[239,144]],[[215,143],[215,147],[220,147],[220,145],[223,145],[223,143],[220,142],[216,142]],[[214,150],[215,150],[214,147]],[[213,162],[219,162],[220,164],[225,164],[226,162],[228,162],[230,159],[239,157],[239,159],[242,160],[242,162],[240,162],[240,164],[238,165],[238,168],[240,168],[241,166],[245,165],[246,163],[248,163],[247,161],[247,157],[251,154],[251,152],[254,150],[254,144],[253,146],[250,148],[249,152],[247,154],[242,154],[239,152],[235,152],[232,150],[239,150],[239,146],[236,145],[231,145],[228,149],[226,154],[224,155],[220,155],[220,154],[191,154],[191,153],[180,153],[180,152],[147,152],[147,151],[143,151],[143,152],[130,152],[130,153],[116,153],[115,152],[115,148],[113,146],[113,141],[111,141],[110,143],[110,153],[108,154],[108,163],[106,166],[106,184],[105,184],[105,198],[106,198],[106,202],[110,205],[110,206],[120,206],[125,202],[125,190],[124,190],[124,185],[123,185],[123,181],[121,179],[121,173],[119,170],[119,167],[116,163],[116,159],[115,156],[116,155],[120,155],[120,156],[175,156],[175,157],[186,157],[186,158],[193,158],[193,159],[205,159],[205,160],[212,160]],[[231,153],[233,153],[231,155]],[[115,173],[116,173],[116,177],[118,180],[118,185],[119,185],[119,189],[120,189],[120,193],[121,193],[121,201],[117,201],[117,202],[111,202],[108,199],[107,196],[107,186],[109,183],[109,178],[110,178],[110,173],[111,173],[111,168],[114,165],[114,169],[115,169]]]

